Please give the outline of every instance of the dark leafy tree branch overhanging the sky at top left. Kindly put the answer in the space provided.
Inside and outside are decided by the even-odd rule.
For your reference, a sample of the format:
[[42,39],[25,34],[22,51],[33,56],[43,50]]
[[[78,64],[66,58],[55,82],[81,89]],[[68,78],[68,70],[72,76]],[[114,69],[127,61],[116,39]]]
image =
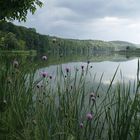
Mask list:
[[26,21],[28,11],[32,14],[41,7],[40,0],[0,0],[0,20]]

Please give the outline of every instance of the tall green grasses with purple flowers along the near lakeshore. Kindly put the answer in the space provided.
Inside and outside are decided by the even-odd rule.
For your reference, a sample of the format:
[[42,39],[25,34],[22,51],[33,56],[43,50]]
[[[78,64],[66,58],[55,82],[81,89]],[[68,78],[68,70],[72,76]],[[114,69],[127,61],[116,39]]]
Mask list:
[[[46,63],[47,57],[42,57]],[[4,60],[0,67],[2,140],[139,140],[139,63],[137,81],[113,81],[100,93],[89,86],[87,67],[58,67],[56,75]],[[94,76],[91,75],[94,80]],[[101,76],[102,79],[102,76]],[[131,89],[132,88],[132,89]]]

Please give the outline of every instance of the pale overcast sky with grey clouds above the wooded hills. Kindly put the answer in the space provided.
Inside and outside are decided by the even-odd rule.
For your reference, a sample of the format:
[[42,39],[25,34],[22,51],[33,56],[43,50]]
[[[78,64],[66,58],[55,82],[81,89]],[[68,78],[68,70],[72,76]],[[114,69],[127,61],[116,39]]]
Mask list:
[[140,43],[140,0],[42,0],[27,22],[41,34]]

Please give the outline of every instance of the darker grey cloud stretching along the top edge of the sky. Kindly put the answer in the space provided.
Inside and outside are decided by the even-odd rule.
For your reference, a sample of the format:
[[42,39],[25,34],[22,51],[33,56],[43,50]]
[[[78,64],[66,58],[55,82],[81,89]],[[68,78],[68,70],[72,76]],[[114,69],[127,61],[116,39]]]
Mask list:
[[58,7],[67,7],[78,15],[87,18],[101,18],[104,16],[130,17],[139,16],[139,0],[60,0]]

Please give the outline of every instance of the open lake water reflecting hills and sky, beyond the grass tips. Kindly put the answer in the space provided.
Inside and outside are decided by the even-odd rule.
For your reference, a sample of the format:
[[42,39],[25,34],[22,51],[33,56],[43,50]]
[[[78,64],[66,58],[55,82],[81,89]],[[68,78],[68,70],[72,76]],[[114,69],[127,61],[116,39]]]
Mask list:
[[[47,55],[47,54],[46,54]],[[127,54],[128,55],[128,54]],[[47,55],[48,56],[48,55]],[[125,56],[119,54],[110,53],[94,53],[93,55],[49,55],[48,60],[43,62],[41,57],[38,56],[23,56],[23,55],[1,55],[1,65],[3,60],[11,62],[15,59],[20,63],[33,62],[36,64],[37,73],[39,71],[47,71],[50,75],[55,77],[56,69],[58,66],[62,66],[71,69],[71,73],[74,73],[75,68],[81,69],[87,67],[87,61],[89,63],[89,72],[87,76],[88,81],[93,80],[98,83],[101,75],[103,74],[102,84],[109,84],[117,67],[119,66],[116,78],[114,82],[124,80],[125,82],[133,82],[136,80],[138,57]],[[25,67],[24,67],[25,68]]]

